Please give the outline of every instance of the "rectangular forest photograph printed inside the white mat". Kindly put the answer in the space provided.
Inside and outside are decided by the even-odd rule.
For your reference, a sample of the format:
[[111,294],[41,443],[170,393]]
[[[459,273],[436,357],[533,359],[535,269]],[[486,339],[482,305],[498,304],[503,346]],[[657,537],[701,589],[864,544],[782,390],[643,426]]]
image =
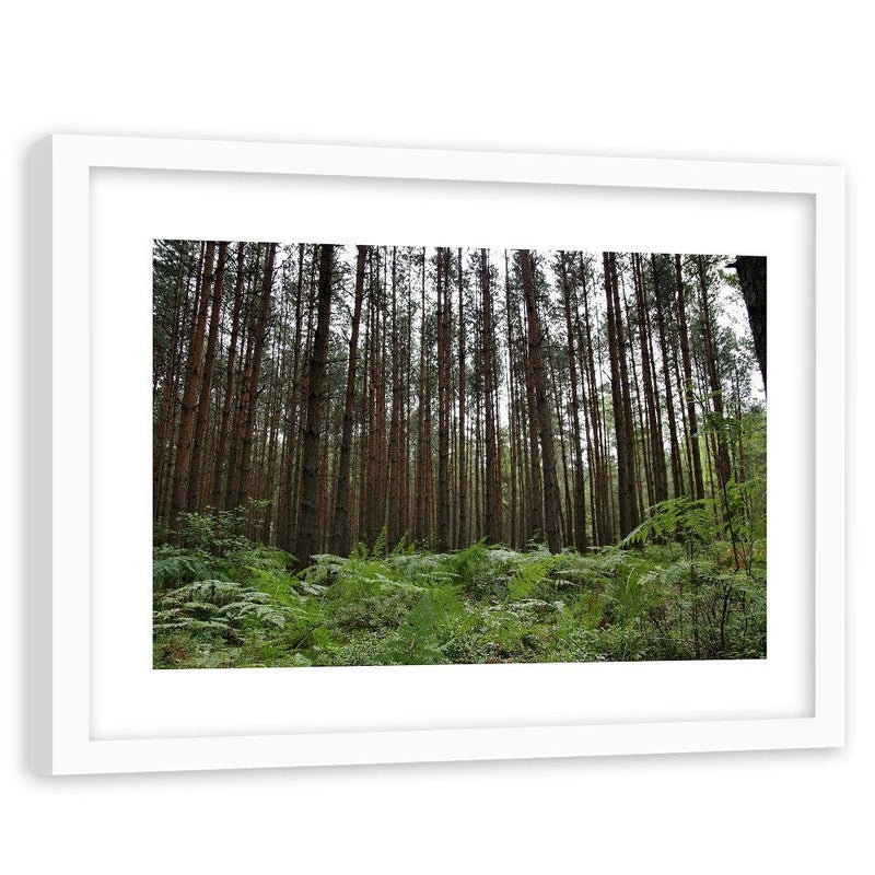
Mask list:
[[766,656],[765,257],[152,256],[154,668]]

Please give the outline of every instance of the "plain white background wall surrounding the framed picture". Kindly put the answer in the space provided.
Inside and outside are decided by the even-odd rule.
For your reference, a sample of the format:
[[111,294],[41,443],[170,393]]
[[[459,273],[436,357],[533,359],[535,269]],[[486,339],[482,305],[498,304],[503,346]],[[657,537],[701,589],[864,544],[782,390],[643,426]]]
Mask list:
[[[4,11],[0,818],[11,872],[862,871],[875,611],[856,4],[31,0]],[[25,763],[25,161],[48,132],[844,164],[849,730],[838,751],[45,779]],[[839,423],[837,423],[837,428]],[[8,545],[5,544],[8,541]],[[837,544],[836,550],[842,549]],[[62,574],[62,570],[60,571]],[[856,862],[860,861],[860,862]]]

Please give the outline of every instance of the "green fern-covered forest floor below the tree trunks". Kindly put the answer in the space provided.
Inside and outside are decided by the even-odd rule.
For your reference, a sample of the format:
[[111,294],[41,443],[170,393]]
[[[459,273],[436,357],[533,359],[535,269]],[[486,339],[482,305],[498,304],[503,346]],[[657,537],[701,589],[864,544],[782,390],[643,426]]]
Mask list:
[[155,668],[761,658],[766,550],[154,550]]

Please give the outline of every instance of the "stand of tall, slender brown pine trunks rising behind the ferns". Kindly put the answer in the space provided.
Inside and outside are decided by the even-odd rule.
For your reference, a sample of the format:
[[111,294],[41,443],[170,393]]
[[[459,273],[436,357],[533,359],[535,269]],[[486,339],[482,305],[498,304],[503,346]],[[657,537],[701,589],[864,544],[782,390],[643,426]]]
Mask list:
[[584,550],[744,467],[714,258],[279,252],[168,249],[153,503],[172,528],[240,511],[302,563],[405,536]]

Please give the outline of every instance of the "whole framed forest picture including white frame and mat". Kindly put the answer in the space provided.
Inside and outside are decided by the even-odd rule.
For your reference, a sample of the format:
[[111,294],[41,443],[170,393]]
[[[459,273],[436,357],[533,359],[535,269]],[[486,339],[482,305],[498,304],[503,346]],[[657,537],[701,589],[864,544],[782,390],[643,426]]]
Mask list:
[[843,187],[39,143],[34,768],[841,745]]

